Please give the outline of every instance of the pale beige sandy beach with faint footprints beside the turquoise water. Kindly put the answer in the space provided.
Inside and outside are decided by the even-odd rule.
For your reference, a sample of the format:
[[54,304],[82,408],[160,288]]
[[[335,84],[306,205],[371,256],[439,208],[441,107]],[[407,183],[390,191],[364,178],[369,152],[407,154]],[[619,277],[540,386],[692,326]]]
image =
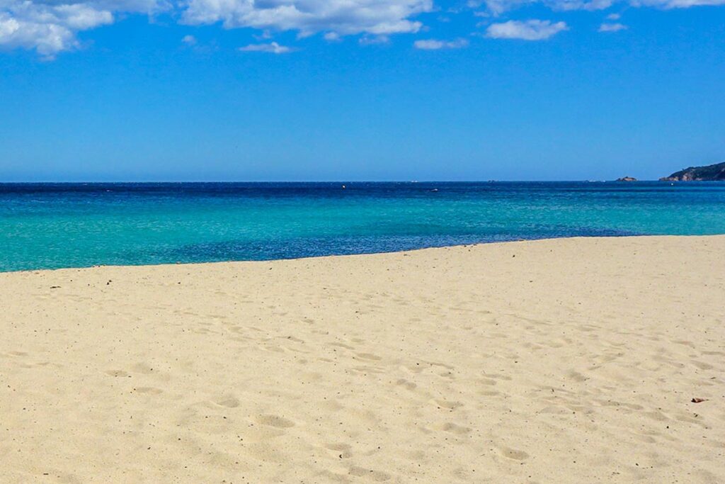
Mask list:
[[0,274],[0,481],[725,483],[724,307],[725,237]]

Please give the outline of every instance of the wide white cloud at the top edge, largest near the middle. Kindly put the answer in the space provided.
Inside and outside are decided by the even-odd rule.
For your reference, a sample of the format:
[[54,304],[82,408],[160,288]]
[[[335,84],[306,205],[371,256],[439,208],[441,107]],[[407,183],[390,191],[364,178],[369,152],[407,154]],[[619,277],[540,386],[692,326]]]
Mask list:
[[422,24],[411,18],[432,9],[433,0],[188,0],[183,21],[297,30],[301,36],[317,32],[387,35],[418,32]]

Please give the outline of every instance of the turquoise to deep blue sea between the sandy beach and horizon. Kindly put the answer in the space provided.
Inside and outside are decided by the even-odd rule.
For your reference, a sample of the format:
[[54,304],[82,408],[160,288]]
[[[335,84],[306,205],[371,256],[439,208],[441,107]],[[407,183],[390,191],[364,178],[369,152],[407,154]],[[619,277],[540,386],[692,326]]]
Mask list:
[[0,184],[0,271],[725,234],[725,183]]

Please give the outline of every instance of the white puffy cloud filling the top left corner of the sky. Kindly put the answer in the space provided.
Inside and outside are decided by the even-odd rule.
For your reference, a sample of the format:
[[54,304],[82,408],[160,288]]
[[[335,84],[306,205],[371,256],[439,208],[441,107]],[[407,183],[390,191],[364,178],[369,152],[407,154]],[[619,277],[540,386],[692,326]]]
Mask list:
[[159,0],[0,0],[0,48],[36,49],[52,58],[77,49],[78,32],[111,24],[117,13],[163,8]]

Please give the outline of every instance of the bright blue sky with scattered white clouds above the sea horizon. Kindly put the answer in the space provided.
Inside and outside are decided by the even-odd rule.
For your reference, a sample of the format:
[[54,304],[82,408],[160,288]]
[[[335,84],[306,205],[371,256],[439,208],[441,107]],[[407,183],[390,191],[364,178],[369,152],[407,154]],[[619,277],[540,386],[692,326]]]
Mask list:
[[725,0],[0,0],[0,181],[656,179]]

